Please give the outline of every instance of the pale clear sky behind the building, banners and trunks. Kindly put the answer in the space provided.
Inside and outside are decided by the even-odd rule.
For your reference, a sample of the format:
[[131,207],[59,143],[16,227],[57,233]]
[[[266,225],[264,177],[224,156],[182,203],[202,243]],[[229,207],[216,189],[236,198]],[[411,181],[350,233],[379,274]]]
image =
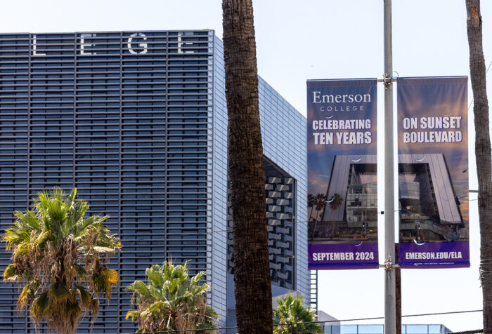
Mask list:
[[[258,72],[302,114],[306,115],[307,79],[382,78],[383,0],[256,0],[253,4]],[[492,44],[487,43],[492,40],[492,1],[482,1],[481,6],[488,66],[492,60]],[[166,29],[215,29],[222,36],[221,1],[15,0],[2,1],[0,11],[0,32]],[[465,1],[393,0],[394,76],[469,75],[468,52]],[[382,120],[382,86],[378,89],[377,119]],[[472,101],[470,84],[468,101]],[[382,122],[377,133],[382,162]],[[470,189],[477,189],[472,108],[469,134]],[[383,168],[379,169],[378,180],[383,185]],[[383,194],[382,187],[379,193]],[[481,309],[474,199],[477,195],[471,194],[471,267],[403,270],[403,315]],[[382,195],[378,203],[382,210]],[[384,244],[383,225],[381,220],[380,245]],[[380,248],[380,263],[382,254]],[[318,284],[318,308],[338,319],[384,315],[383,269],[323,271]],[[480,312],[406,317],[403,323],[443,323],[455,331],[483,327]]]

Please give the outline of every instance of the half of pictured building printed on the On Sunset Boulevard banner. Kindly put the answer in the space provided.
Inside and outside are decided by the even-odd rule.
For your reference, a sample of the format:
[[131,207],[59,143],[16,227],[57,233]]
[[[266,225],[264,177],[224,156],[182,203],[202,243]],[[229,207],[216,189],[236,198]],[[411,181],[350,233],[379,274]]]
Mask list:
[[401,241],[468,239],[444,154],[399,154],[398,173]]

